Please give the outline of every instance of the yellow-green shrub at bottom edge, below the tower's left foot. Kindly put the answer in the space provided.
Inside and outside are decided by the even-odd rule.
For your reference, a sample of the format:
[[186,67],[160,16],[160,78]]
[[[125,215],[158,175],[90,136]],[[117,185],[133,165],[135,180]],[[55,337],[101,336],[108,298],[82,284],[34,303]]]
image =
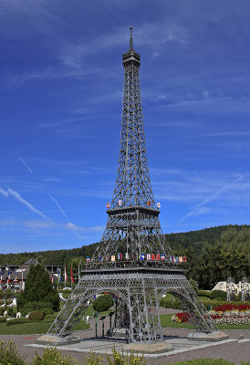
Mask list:
[[31,365],[80,365],[78,360],[72,359],[70,356],[64,357],[57,348],[48,348],[43,350],[42,356],[36,352],[36,358],[33,359]]

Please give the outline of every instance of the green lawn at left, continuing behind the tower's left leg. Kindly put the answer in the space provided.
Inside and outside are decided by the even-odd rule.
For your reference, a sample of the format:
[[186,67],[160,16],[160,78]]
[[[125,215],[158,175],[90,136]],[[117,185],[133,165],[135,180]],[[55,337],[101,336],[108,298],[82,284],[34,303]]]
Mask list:
[[[47,333],[56,315],[49,315],[44,320],[38,322],[20,323],[13,326],[7,326],[6,323],[0,323],[1,335],[32,335]],[[88,329],[89,324],[83,320],[78,322],[76,330]]]

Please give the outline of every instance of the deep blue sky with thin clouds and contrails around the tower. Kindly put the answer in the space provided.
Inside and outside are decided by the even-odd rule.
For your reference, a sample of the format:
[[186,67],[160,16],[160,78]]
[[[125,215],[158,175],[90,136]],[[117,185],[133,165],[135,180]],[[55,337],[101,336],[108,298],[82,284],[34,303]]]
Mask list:
[[248,0],[1,0],[0,18],[1,253],[101,238],[130,26],[164,233],[249,224]]

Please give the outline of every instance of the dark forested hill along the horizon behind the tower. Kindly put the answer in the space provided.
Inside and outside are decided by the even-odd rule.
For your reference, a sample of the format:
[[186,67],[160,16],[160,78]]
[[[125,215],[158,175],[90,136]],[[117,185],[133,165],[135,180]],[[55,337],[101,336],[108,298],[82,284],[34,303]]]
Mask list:
[[[196,251],[200,255],[204,245],[215,245],[219,242],[221,235],[228,229],[234,229],[234,232],[245,231],[250,228],[250,225],[220,225],[217,227],[205,228],[199,231],[184,232],[179,234],[165,235],[167,241],[172,247],[173,251],[184,254],[189,248]],[[249,232],[249,231],[248,231]],[[56,251],[40,251],[20,254],[1,254],[0,251],[0,265],[21,265],[27,259],[34,257],[44,265],[60,265],[69,264],[74,258],[82,257],[85,259],[87,255],[92,255],[97,247],[97,243],[91,245],[84,245],[79,248]]]

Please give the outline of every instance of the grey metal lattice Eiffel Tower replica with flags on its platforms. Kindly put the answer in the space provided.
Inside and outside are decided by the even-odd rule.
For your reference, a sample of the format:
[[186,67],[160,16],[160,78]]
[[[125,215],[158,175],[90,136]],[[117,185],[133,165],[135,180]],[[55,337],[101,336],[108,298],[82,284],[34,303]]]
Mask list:
[[107,204],[107,226],[47,335],[67,339],[89,300],[104,292],[116,297],[116,316],[109,337],[122,328],[129,342],[161,342],[159,307],[166,293],[180,301],[198,333],[220,333],[181,264],[172,262],[172,250],[161,231],[160,204],[154,201],[146,155],[140,65],[130,28],[130,49],[123,54],[119,166],[112,202]]

